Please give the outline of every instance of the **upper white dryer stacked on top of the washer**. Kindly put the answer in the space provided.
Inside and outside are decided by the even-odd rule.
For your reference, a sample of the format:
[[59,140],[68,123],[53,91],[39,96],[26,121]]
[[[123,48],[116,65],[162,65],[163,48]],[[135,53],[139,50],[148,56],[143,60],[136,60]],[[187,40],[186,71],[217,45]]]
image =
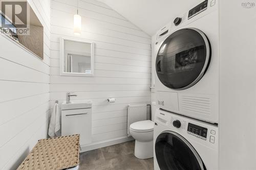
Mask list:
[[206,0],[157,33],[157,105],[218,123],[219,29],[217,0]]

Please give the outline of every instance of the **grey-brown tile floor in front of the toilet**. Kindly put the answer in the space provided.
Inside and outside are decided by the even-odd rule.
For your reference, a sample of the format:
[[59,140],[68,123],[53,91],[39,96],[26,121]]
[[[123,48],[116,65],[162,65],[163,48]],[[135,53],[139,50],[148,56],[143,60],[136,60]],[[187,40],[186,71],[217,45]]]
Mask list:
[[129,141],[80,154],[79,170],[151,170],[153,158],[138,159],[134,156],[135,141]]

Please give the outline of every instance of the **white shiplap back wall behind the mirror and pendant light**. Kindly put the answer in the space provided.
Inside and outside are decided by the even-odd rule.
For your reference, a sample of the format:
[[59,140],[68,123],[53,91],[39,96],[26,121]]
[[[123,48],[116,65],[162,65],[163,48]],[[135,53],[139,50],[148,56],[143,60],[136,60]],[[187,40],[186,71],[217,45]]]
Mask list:
[[[126,139],[127,105],[151,102],[151,37],[103,3],[78,2],[82,34],[77,38],[95,42],[95,76],[59,76],[59,37],[75,37],[77,1],[52,0],[51,104],[75,92],[73,101],[93,102],[93,144]],[[109,104],[107,98],[116,102]]]

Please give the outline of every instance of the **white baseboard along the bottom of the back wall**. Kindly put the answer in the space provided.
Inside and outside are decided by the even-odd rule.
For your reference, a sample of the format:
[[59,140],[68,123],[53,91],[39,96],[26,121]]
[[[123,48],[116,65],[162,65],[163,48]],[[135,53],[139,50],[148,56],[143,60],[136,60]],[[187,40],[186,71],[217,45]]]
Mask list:
[[131,140],[134,140],[134,138],[131,136],[130,137],[122,136],[122,137],[118,137],[118,138],[114,138],[114,139],[109,139],[109,140],[104,140],[104,141],[100,141],[100,142],[81,145],[81,152],[96,150],[99,148],[104,148],[104,147],[108,147],[110,145],[119,144],[119,143],[131,141]]

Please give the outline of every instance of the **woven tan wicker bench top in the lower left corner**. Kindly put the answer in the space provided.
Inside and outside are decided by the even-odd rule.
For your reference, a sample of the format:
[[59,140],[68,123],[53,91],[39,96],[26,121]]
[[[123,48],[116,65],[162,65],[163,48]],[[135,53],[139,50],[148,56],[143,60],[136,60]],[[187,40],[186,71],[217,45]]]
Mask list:
[[40,139],[17,169],[78,169],[79,139],[79,135]]

